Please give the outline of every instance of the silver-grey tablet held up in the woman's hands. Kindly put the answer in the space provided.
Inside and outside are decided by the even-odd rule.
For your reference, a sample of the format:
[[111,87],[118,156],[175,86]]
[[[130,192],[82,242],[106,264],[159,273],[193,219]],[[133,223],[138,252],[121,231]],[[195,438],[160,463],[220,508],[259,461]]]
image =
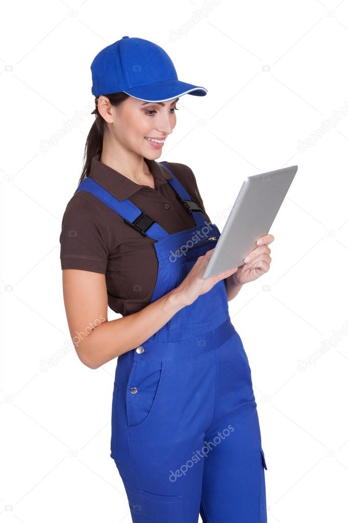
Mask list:
[[297,165],[248,176],[239,191],[202,278],[244,265],[244,258],[268,234]]

